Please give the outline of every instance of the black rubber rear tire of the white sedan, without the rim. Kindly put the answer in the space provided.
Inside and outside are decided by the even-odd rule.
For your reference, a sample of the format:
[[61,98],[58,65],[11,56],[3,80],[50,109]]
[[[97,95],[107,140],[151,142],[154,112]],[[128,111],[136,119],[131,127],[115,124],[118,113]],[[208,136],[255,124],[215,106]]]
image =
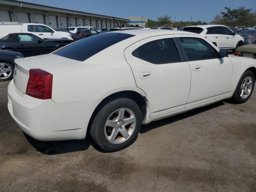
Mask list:
[[[111,114],[113,114],[116,110],[120,108],[127,108],[131,110],[134,113],[136,122],[134,122],[135,128],[133,132],[130,134],[130,136],[126,140],[124,140],[124,142],[114,144],[110,142],[110,140],[108,140],[106,137],[105,125],[108,118],[111,116]],[[134,102],[129,98],[119,98],[106,104],[104,107],[100,109],[98,114],[96,114],[92,122],[90,135],[92,136],[94,142],[100,148],[106,151],[114,152],[114,151],[122,150],[135,142],[135,140],[138,137],[138,133],[140,131],[141,122],[142,122],[142,114],[136,102]],[[112,131],[114,129],[112,129]],[[118,138],[118,136],[116,138]]]

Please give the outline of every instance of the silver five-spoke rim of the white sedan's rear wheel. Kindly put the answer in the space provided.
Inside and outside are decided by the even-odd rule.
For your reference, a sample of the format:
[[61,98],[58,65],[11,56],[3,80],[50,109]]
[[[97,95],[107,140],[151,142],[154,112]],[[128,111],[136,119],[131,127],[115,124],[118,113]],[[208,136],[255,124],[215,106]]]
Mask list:
[[115,110],[105,124],[105,136],[110,143],[120,144],[133,134],[136,126],[134,112],[128,108]]

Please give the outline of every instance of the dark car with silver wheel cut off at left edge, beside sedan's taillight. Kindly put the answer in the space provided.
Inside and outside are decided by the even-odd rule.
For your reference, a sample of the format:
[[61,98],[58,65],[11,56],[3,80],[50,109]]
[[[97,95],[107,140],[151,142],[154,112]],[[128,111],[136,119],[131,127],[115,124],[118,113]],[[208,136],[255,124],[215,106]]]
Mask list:
[[0,50],[0,81],[11,80],[14,74],[14,59],[23,58],[15,51]]

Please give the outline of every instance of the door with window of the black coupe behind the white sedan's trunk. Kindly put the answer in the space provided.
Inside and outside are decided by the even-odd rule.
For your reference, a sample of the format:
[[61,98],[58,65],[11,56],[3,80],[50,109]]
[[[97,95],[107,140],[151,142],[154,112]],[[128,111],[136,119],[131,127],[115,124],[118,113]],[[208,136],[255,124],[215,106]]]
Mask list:
[[33,34],[18,34],[19,44],[16,51],[24,57],[42,55],[49,52],[46,43]]

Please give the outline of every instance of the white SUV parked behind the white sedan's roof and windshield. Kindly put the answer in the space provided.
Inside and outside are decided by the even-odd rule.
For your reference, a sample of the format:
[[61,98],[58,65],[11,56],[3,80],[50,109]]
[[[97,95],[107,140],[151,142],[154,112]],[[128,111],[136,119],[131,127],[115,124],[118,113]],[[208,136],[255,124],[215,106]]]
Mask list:
[[224,25],[196,25],[185,27],[183,30],[204,36],[220,49],[234,51],[244,42],[244,38]]

